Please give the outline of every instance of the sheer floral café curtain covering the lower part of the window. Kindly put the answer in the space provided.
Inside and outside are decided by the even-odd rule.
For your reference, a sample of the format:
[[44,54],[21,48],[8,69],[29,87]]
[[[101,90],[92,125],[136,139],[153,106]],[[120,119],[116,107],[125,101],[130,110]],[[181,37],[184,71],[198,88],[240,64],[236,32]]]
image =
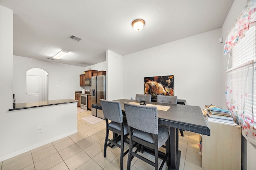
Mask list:
[[254,110],[255,63],[250,61],[229,70],[226,77],[226,104],[234,121],[242,127],[242,134],[256,145],[256,120]]

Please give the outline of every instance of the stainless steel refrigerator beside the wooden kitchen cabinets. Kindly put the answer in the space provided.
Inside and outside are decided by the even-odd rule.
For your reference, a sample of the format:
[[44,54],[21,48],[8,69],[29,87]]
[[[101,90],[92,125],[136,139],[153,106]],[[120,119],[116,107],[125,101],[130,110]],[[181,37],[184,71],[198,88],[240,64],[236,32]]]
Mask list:
[[[106,75],[92,76],[92,104],[100,103],[100,99],[106,100]],[[103,111],[92,108],[92,115],[104,119]]]

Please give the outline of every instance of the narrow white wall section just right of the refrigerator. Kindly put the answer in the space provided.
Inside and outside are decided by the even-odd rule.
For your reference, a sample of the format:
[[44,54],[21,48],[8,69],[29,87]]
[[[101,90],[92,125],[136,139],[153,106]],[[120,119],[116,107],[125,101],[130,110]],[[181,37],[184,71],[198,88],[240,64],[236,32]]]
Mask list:
[[[106,82],[106,99],[116,100],[123,98],[123,82],[125,77],[123,76],[123,57],[110,50],[107,50],[107,82]],[[129,98],[128,98],[129,99]]]

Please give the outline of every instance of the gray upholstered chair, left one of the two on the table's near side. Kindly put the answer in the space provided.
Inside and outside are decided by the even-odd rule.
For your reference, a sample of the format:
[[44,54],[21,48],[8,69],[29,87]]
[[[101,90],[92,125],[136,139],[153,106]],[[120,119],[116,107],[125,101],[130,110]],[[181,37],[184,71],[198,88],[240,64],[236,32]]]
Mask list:
[[[124,138],[127,138],[126,135],[129,133],[129,128],[127,125],[126,120],[123,118],[122,109],[120,102],[115,101],[108,101],[100,99],[100,104],[102,107],[103,115],[106,120],[106,138],[104,143],[104,157],[106,157],[106,149],[107,147],[114,147],[117,146],[121,149],[121,156],[120,156],[120,170],[123,170],[124,168],[124,156],[128,153],[128,150],[124,152]],[[110,123],[108,123],[108,120],[111,120]],[[114,139],[109,139],[109,130],[113,133],[118,134],[117,137]],[[119,145],[117,142],[121,138],[121,145]],[[128,138],[127,138],[128,140]],[[110,144],[112,144],[110,146]]]

